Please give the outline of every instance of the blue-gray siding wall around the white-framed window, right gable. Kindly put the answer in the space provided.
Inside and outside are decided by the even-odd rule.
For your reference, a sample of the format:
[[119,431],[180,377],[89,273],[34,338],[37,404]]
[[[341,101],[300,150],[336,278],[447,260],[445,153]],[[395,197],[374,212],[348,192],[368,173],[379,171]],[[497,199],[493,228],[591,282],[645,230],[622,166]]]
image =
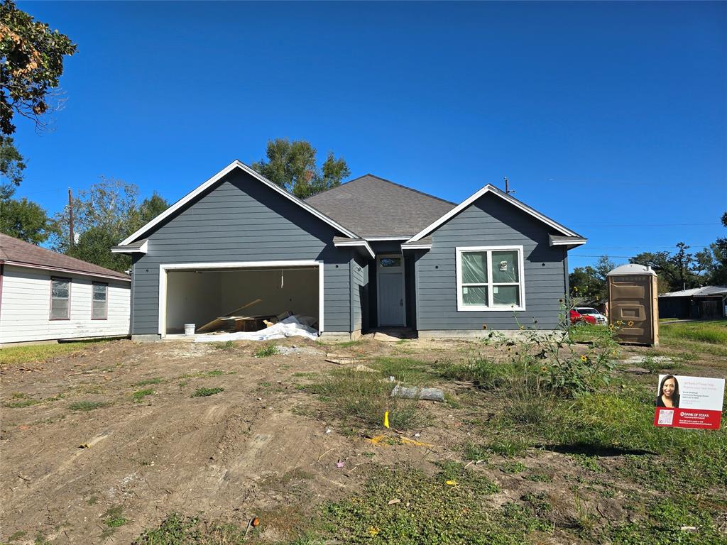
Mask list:
[[[566,251],[552,247],[548,228],[494,195],[483,195],[432,233],[417,252],[417,328],[425,330],[553,329],[567,291]],[[457,246],[523,246],[526,310],[457,311]],[[517,315],[517,318],[515,318]]]

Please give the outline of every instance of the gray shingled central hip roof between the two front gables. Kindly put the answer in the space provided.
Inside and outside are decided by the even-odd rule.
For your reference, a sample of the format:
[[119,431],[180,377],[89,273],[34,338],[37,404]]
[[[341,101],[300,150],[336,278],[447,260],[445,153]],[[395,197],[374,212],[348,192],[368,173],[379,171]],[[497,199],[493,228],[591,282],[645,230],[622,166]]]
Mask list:
[[366,174],[305,199],[363,238],[405,240],[455,204]]

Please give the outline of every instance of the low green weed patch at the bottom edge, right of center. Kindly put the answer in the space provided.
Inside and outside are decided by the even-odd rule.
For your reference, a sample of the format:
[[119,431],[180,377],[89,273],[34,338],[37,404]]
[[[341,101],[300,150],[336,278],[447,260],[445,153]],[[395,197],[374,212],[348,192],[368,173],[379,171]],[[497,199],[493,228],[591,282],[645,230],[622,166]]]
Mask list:
[[[550,525],[529,506],[489,506],[499,487],[461,464],[437,475],[419,469],[374,467],[360,495],[324,506],[321,536],[342,544],[515,545]],[[399,501],[389,504],[393,499]]]

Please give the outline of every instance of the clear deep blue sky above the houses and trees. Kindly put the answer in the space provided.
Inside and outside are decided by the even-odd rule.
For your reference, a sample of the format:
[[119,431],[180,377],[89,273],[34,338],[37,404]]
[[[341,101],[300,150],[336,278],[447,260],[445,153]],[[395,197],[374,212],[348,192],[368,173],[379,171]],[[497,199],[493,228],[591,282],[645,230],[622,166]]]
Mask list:
[[727,3],[19,2],[71,36],[17,195],[176,201],[270,138],[462,201],[510,178],[582,266],[725,235]]

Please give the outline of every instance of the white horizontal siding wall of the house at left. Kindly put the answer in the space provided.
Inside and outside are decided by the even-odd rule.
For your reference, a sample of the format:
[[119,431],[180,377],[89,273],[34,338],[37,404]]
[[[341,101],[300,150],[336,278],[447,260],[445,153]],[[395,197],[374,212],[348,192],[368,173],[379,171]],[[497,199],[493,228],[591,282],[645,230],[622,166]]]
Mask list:
[[[71,279],[70,318],[50,319],[50,282]],[[108,283],[106,320],[91,319],[92,283]],[[5,265],[0,344],[129,334],[129,282]]]

